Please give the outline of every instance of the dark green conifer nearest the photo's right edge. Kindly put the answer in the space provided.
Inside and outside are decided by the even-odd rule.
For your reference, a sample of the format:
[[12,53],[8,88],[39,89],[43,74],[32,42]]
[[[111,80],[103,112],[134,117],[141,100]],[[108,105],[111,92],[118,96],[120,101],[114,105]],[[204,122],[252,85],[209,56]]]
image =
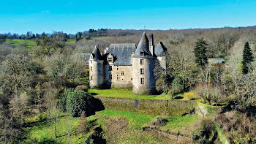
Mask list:
[[243,51],[243,61],[242,61],[242,70],[244,74],[247,74],[249,72],[249,64],[252,64],[253,56],[252,56],[252,50],[249,48],[249,42],[246,42],[244,45],[244,51]]

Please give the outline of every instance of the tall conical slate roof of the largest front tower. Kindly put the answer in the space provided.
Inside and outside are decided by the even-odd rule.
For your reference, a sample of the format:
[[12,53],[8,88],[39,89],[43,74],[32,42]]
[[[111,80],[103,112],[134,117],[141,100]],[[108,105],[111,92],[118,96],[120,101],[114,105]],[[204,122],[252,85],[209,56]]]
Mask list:
[[[140,56],[140,52],[144,52],[145,55],[144,56]],[[143,36],[140,39],[138,48],[135,50],[135,54],[133,56],[133,58],[147,58],[147,57],[151,57],[151,53],[149,51],[149,41],[148,41],[148,37],[146,36],[146,33],[143,33]]]

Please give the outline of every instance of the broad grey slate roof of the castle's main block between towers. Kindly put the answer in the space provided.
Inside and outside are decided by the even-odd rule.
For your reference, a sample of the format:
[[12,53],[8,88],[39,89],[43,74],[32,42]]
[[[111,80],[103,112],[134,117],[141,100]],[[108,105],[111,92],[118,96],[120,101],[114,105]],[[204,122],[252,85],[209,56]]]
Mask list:
[[109,53],[112,54],[114,56],[114,65],[132,65],[131,55],[132,52],[135,52],[135,50],[135,43],[111,44],[106,51],[105,56],[107,56]]

